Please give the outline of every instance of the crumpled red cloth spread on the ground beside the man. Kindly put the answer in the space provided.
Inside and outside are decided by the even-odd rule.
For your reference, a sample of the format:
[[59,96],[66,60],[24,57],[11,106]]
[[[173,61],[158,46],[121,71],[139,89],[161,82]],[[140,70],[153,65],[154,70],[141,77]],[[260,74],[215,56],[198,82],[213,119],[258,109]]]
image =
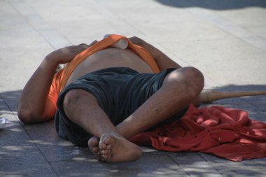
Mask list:
[[251,120],[242,110],[191,105],[181,120],[137,134],[130,141],[158,150],[200,151],[241,161],[266,156],[266,123]]

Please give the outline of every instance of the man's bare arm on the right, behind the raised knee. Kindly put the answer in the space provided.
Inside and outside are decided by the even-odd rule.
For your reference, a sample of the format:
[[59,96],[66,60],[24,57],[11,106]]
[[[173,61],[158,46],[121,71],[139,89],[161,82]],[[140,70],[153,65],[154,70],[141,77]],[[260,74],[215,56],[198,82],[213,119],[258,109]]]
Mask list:
[[169,68],[177,68],[177,69],[181,68],[179,64],[177,64],[172,59],[167,57],[165,53],[161,52],[160,50],[158,50],[158,48],[155,48],[153,45],[146,43],[146,41],[142,40],[141,38],[134,36],[130,38],[130,41],[148,50],[148,52],[150,52],[153,58],[155,59],[155,62],[158,64],[160,71]]

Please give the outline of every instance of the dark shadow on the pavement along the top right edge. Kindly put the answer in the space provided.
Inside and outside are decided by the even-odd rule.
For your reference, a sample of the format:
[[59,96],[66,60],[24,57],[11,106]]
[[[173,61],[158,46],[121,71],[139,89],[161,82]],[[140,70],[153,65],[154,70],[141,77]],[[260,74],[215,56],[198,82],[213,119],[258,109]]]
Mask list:
[[230,10],[238,8],[248,8],[248,7],[261,7],[266,8],[266,1],[263,0],[202,0],[202,1],[186,1],[186,0],[155,0],[166,6],[172,6],[176,8],[190,8],[190,7],[200,7],[209,8],[214,10]]

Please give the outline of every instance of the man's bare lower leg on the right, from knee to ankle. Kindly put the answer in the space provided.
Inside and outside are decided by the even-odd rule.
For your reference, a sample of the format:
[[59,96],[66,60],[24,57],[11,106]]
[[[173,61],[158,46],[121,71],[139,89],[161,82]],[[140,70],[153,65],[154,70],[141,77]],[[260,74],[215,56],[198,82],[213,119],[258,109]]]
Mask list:
[[[153,125],[167,120],[174,113],[188,106],[201,92],[204,78],[200,71],[194,68],[183,68],[169,73],[155,94],[148,99],[129,118],[117,125],[118,132],[126,139]],[[89,145],[98,151],[97,139],[90,139]],[[106,153],[109,151],[106,150]]]

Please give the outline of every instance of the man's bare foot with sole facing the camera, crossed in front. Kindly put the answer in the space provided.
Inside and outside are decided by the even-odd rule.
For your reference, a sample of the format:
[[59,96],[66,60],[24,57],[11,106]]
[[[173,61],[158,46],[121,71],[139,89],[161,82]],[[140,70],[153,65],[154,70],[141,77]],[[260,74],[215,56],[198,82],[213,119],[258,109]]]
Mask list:
[[142,155],[141,148],[120,136],[103,134],[99,141],[100,158],[104,162],[132,162]]

